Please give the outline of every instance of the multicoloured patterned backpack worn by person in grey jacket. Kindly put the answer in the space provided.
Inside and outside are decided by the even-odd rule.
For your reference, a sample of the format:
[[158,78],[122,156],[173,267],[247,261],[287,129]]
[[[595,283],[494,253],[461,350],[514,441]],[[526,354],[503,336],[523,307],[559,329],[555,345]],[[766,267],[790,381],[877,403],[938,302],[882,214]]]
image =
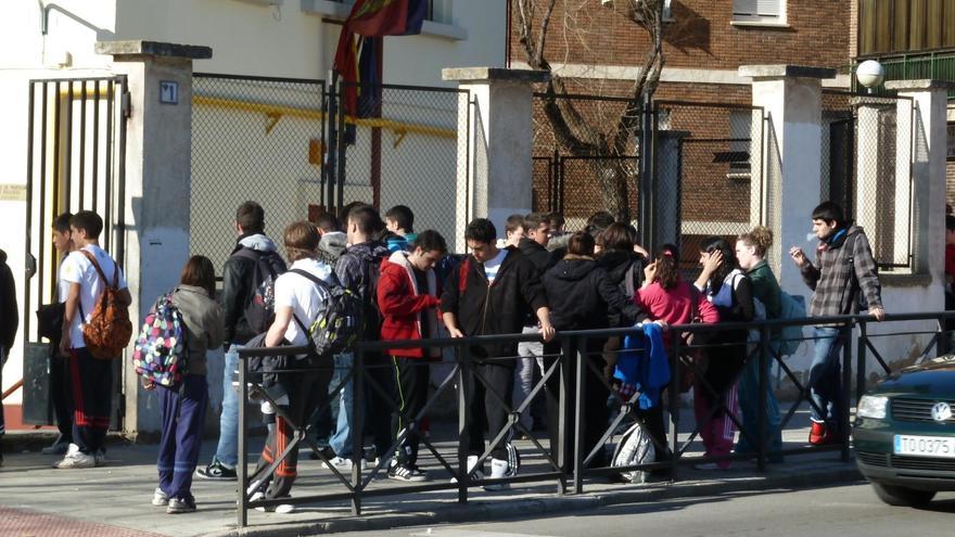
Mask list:
[[136,373],[160,386],[173,387],[189,371],[187,330],[173,293],[156,301],[147,314],[132,351]]

